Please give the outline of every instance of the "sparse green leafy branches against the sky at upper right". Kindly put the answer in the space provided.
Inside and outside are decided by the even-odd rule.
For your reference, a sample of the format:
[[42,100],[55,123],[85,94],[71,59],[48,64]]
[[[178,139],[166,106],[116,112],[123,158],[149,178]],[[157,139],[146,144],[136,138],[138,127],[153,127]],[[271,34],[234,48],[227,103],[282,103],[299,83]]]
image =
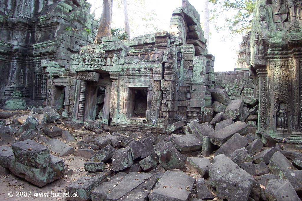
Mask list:
[[216,30],[226,27],[232,34],[242,34],[251,29],[253,11],[259,0],[209,0],[209,2],[216,6],[210,11],[213,14],[210,20],[217,24],[215,21],[225,18],[224,26],[216,26]]

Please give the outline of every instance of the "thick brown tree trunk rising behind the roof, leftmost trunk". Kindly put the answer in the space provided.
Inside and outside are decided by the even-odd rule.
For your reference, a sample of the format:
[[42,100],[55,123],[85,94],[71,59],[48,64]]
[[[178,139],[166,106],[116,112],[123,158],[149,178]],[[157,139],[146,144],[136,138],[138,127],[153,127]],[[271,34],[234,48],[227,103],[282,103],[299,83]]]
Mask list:
[[113,0],[103,0],[103,11],[100,22],[98,24],[98,33],[95,37],[94,43],[100,43],[102,37],[111,37],[111,18],[112,18],[112,4]]

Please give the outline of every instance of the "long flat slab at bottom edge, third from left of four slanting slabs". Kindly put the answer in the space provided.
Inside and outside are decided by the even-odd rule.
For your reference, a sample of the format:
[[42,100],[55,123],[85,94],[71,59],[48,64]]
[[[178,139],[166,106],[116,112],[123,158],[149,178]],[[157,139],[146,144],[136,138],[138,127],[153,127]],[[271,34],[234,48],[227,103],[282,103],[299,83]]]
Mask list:
[[135,189],[138,185],[142,184],[153,174],[150,173],[137,173],[137,172],[130,172],[127,174],[123,180],[114,188],[114,190],[109,193],[107,196],[108,201],[115,201]]

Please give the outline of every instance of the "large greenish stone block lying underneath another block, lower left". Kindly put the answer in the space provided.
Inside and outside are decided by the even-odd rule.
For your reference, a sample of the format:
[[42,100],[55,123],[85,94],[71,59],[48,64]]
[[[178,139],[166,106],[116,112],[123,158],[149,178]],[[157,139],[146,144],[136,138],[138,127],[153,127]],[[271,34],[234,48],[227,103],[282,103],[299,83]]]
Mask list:
[[61,178],[64,172],[64,162],[62,159],[51,156],[50,162],[51,164],[43,168],[36,168],[24,165],[18,162],[15,156],[11,156],[8,159],[8,168],[18,177],[24,178],[26,181],[38,187],[43,187],[46,184]]

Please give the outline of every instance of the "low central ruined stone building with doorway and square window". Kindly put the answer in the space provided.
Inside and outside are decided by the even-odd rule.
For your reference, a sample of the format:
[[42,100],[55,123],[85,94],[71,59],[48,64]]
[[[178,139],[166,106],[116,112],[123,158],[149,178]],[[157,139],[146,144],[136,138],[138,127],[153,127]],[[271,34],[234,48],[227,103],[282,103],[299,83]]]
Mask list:
[[[213,55],[207,54],[200,16],[188,1],[170,20],[169,32],[120,41],[102,39],[72,54],[70,65],[42,64],[47,74],[48,105],[63,116],[89,125],[122,130],[165,130],[175,121],[213,117]],[[64,86],[64,87],[62,87]],[[65,95],[64,95],[65,94]]]

